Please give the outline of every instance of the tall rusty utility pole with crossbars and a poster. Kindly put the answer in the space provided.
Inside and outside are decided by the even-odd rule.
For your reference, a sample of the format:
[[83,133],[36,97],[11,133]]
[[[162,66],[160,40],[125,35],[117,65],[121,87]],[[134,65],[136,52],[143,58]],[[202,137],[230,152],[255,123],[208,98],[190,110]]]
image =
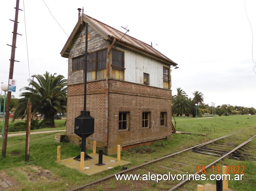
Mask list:
[[[9,79],[13,78],[13,67],[14,67],[14,59],[15,59],[15,48],[16,48],[16,38],[17,38],[17,29],[18,29],[18,14],[19,14],[19,0],[16,0],[15,10],[15,20],[11,20],[14,22],[13,26],[13,35],[12,35],[12,45],[8,45],[11,47],[11,59],[10,59],[10,70],[9,70]],[[19,34],[21,35],[21,34]],[[8,126],[9,126],[9,113],[10,113],[10,101],[11,101],[11,92],[7,93],[7,102],[6,102],[6,118],[5,118],[5,131],[4,131],[4,140],[2,146],[2,157],[6,156],[6,147],[7,147],[7,135],[8,135]]]

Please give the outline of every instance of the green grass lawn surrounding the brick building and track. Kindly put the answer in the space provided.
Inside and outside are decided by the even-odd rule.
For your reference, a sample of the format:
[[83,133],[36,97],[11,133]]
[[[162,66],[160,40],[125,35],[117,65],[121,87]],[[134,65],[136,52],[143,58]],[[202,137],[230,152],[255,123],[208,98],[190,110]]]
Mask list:
[[[195,118],[186,119],[179,117],[176,117],[175,119],[177,122],[176,129],[178,131],[195,132],[200,134],[207,133],[208,136],[173,134],[172,139],[166,139],[150,146],[136,147],[129,151],[122,151],[121,159],[131,162],[131,164],[128,165],[128,168],[145,163],[145,161],[154,160],[167,154],[175,153],[192,145],[256,125],[256,115],[223,116],[213,118],[203,117],[197,118],[197,120]],[[62,120],[56,120],[55,122],[61,121]],[[198,131],[199,123],[203,128],[205,128],[205,130],[209,130],[212,124],[215,128],[215,132]],[[56,128],[50,128],[50,130],[55,129]],[[256,132],[256,126],[251,128],[250,131],[253,136]],[[54,142],[54,137],[55,133],[31,135],[29,162],[25,162],[26,136],[22,135],[8,138],[7,155],[5,158],[0,157],[0,175],[1,177],[8,177],[15,183],[15,189],[13,189],[13,187],[9,187],[9,190],[68,190],[112,173],[119,172],[122,169],[122,167],[115,167],[111,170],[88,176],[80,173],[79,171],[60,165],[56,162],[58,145],[61,146],[61,159],[75,157],[80,153],[81,149],[78,145],[71,143]],[[0,140],[0,144],[2,144],[2,140]],[[87,149],[87,153],[92,153],[92,151]],[[113,155],[112,157],[116,157],[116,155]],[[248,179],[245,179],[245,181],[248,181],[247,184],[251,184],[249,190],[253,190],[253,186],[254,188],[256,187],[256,172],[251,171],[250,169],[256,169],[256,164],[253,162],[243,163],[243,161],[240,161],[238,164],[238,162],[234,160],[228,162],[230,164],[237,163],[237,165],[240,165],[241,163],[245,165],[246,169],[248,169],[247,172],[250,173],[248,174],[250,181],[248,181]],[[47,171],[51,178],[47,179],[40,176],[39,174],[41,170]],[[243,182],[234,182],[231,186],[233,189],[240,190],[239,188],[241,188],[241,184],[243,184]],[[190,186],[190,184],[188,185]],[[191,186],[193,186],[193,184],[191,184]]]

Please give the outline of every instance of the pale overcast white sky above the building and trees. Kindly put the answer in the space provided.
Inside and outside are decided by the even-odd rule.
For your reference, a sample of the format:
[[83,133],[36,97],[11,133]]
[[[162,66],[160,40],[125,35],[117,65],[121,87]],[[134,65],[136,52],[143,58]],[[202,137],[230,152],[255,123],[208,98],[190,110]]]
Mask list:
[[[15,5],[16,0],[0,3],[0,83],[9,78],[11,47],[6,44],[12,44],[9,19],[15,18]],[[256,108],[255,0],[21,0],[19,8],[25,11],[19,11],[22,36],[17,35],[15,60],[20,62],[14,63],[17,87],[12,95],[19,97],[31,75],[48,71],[68,77],[68,62],[60,51],[82,7],[85,14],[121,32],[127,26],[128,35],[152,42],[178,63],[171,72],[173,95],[181,88],[191,98],[193,92],[202,92],[210,106]]]

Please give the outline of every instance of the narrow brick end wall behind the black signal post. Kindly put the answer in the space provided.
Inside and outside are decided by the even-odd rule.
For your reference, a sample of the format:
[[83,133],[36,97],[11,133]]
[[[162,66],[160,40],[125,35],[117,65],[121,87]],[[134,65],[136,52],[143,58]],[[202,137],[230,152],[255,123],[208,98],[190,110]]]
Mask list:
[[[94,134],[88,137],[87,147],[92,148],[93,141],[97,141],[97,146],[104,146],[105,139],[105,92],[106,80],[87,83],[87,111],[94,117]],[[71,143],[80,143],[81,138],[74,133],[75,117],[81,114],[84,105],[84,83],[68,86],[67,101],[67,123],[66,134]],[[82,109],[81,109],[82,108]]]

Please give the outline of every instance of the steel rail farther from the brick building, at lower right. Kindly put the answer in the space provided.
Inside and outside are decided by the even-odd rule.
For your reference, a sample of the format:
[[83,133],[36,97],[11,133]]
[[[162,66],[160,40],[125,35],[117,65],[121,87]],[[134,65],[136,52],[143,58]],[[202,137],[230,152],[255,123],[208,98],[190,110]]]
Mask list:
[[[250,139],[248,139],[247,141],[245,141],[244,143],[238,145],[237,147],[235,147],[234,149],[232,149],[230,152],[228,152],[227,154],[223,155],[222,157],[218,158],[217,160],[213,161],[211,164],[207,165],[205,167],[205,169],[208,169],[209,167],[212,167],[214,164],[216,164],[217,162],[219,162],[220,160],[222,160],[223,158],[229,156],[231,153],[233,153],[234,151],[236,151],[237,149],[239,149],[240,147],[244,146],[245,144],[249,143],[251,140],[253,140],[256,137],[256,135],[254,135],[253,137],[251,137]],[[199,172],[196,172],[195,174],[193,174],[193,176],[195,177],[196,174],[199,174],[202,171],[202,169]],[[182,182],[180,182],[179,184],[176,184],[174,187],[172,187],[171,189],[169,189],[168,191],[172,191],[178,187],[180,187],[181,185],[189,182],[190,180],[183,180]]]

